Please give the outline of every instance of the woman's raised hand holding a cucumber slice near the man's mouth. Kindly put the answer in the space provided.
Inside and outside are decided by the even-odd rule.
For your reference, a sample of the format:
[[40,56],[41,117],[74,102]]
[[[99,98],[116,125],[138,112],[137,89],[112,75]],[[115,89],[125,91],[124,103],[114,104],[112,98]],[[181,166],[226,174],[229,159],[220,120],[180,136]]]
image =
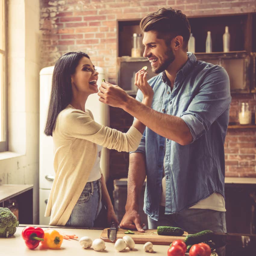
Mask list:
[[153,99],[153,96],[154,96],[154,91],[153,91],[152,87],[148,84],[147,71],[146,70],[141,69],[135,74],[134,84],[143,93],[143,100],[145,102],[142,101],[142,103],[144,103],[146,105],[148,105],[150,103],[149,106],[151,106],[152,99]]

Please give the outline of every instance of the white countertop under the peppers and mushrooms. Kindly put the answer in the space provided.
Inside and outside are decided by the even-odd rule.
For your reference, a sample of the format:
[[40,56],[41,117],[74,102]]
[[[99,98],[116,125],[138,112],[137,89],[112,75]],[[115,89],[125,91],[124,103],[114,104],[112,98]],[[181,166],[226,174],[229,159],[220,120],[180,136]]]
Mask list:
[[[118,252],[114,248],[114,243],[108,243],[106,242],[106,249],[104,252],[98,252],[94,251],[92,248],[90,249],[83,249],[79,244],[79,239],[82,236],[89,236],[92,241],[96,238],[100,238],[102,230],[95,230],[95,229],[63,229],[63,228],[55,228],[58,231],[64,232],[66,234],[72,235],[75,234],[78,236],[77,240],[70,239],[66,240],[64,239],[61,245],[61,248],[58,250],[40,250],[39,246],[34,249],[30,250],[25,245],[25,242],[23,238],[21,237],[21,232],[24,227],[17,227],[17,231],[14,234],[14,236],[9,238],[0,238],[0,252],[1,255],[4,256],[23,256],[23,255],[60,255],[60,256],[78,256],[78,255],[130,255],[130,256],[141,256],[141,255],[147,255],[150,256],[151,254],[145,252],[143,250],[143,244],[136,244],[133,251],[124,250],[122,252]],[[45,229],[45,228],[43,228]],[[152,255],[167,255],[167,250],[169,248],[169,245],[153,245],[155,254]]]

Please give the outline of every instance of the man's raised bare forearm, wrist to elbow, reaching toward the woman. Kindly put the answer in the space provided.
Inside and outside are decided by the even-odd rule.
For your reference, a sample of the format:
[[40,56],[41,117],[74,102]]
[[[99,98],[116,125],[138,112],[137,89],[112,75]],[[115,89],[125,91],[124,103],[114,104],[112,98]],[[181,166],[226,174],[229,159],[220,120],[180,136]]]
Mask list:
[[123,105],[123,110],[139,119],[149,129],[159,135],[171,139],[181,145],[192,142],[189,127],[180,118],[155,111],[136,99],[129,97]]

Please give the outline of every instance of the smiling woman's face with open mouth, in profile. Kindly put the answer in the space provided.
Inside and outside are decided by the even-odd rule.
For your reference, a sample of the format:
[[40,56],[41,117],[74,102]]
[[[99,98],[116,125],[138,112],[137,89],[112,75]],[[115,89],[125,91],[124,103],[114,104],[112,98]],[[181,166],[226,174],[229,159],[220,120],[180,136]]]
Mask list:
[[95,70],[92,61],[86,57],[80,59],[76,71],[71,75],[73,89],[77,92],[90,95],[98,92],[98,72]]

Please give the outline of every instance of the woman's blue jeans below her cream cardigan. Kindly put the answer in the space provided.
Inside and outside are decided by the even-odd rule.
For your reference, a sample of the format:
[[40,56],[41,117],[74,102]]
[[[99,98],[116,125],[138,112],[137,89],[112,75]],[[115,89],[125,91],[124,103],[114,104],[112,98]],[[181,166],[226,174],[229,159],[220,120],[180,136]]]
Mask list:
[[101,208],[101,180],[87,182],[65,226],[91,228]]

